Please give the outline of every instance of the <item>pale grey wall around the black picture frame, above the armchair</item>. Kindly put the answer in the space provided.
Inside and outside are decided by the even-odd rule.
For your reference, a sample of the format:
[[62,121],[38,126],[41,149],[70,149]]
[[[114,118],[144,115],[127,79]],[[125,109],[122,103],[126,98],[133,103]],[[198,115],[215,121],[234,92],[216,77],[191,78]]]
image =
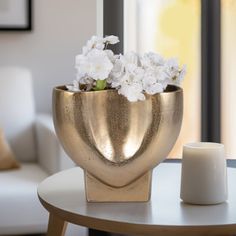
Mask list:
[[52,88],[75,78],[75,55],[96,34],[96,0],[34,0],[33,18],[32,32],[0,32],[0,66],[29,68],[36,110],[50,112]]

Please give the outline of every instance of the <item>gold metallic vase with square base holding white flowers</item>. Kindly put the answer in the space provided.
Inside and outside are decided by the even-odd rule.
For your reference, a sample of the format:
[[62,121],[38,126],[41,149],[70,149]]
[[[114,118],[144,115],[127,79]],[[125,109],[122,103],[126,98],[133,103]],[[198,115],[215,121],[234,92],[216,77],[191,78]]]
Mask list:
[[183,91],[129,102],[116,90],[53,90],[53,120],[66,153],[84,169],[89,202],[148,201],[152,169],[179,135]]

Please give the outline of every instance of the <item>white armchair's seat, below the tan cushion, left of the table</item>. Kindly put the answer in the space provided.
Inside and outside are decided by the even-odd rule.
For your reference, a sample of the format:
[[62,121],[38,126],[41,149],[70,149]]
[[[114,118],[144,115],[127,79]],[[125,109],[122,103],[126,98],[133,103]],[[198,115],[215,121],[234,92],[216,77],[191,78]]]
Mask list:
[[37,196],[37,186],[46,177],[31,163],[0,172],[0,235],[46,232],[48,214]]

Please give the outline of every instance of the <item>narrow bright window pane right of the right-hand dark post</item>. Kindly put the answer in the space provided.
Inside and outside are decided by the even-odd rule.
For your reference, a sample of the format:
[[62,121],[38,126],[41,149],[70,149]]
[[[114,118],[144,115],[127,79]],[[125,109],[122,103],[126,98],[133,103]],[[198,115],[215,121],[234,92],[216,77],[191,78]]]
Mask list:
[[222,33],[222,142],[226,155],[236,158],[236,1],[221,1]]

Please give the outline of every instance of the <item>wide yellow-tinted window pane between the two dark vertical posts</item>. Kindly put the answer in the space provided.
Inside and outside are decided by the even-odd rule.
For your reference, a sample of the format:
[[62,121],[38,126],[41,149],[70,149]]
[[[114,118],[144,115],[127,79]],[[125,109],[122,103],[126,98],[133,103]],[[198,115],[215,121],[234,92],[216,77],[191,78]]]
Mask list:
[[124,0],[124,51],[158,52],[187,63],[184,117],[169,157],[181,157],[182,145],[201,138],[201,44],[199,0]]

